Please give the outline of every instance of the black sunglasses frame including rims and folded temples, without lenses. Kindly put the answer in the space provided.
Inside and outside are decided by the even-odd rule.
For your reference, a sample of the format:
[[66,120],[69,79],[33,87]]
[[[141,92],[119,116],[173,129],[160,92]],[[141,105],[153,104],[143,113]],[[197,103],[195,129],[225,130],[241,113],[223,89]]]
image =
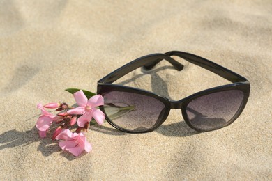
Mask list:
[[[128,74],[128,72],[131,72],[142,66],[144,66],[144,68],[146,68],[147,70],[150,70],[151,68],[153,68],[153,66],[155,66],[157,63],[159,63],[162,60],[169,61],[169,63],[171,63],[176,70],[179,70],[179,71],[182,70],[183,65],[181,65],[181,63],[177,62],[170,56],[179,56],[191,63],[199,65],[202,68],[210,70],[211,72],[214,72],[220,75],[220,77],[223,77],[229,81],[232,81],[233,83],[227,84],[224,86],[217,86],[215,88],[209,88],[204,91],[199,91],[198,93],[194,93],[178,101],[169,100],[166,97],[163,97],[161,95],[157,95],[156,93],[152,93],[150,91],[142,90],[139,88],[112,84],[112,82],[123,77],[125,74]],[[194,127],[190,123],[190,120],[188,119],[188,116],[186,113],[186,107],[192,100],[195,100],[197,97],[201,97],[203,95],[209,95],[211,93],[228,91],[228,90],[243,91],[243,101],[241,103],[241,106],[239,107],[239,110],[237,110],[236,114],[225,125],[220,125],[220,127],[214,127],[213,129],[205,130],[205,129],[198,129],[197,127]],[[153,130],[158,128],[160,125],[162,125],[163,122],[165,122],[165,120],[167,119],[169,115],[169,111],[171,109],[181,109],[183,119],[186,121],[188,126],[191,127],[192,129],[195,129],[197,132],[207,132],[207,131],[213,131],[213,130],[225,127],[227,125],[230,125],[231,123],[234,122],[234,120],[236,120],[236,118],[240,116],[243,109],[245,108],[246,103],[248,102],[248,97],[250,95],[250,82],[245,77],[242,77],[241,75],[236,74],[235,72],[232,72],[231,70],[228,70],[227,68],[224,68],[221,65],[213,63],[200,56],[196,56],[194,54],[189,54],[186,52],[172,51],[172,52],[167,52],[165,54],[150,54],[147,56],[142,56],[141,58],[135,59],[135,61],[131,61],[130,63],[123,65],[121,68],[108,74],[103,79],[100,79],[100,81],[98,81],[97,93],[103,95],[103,93],[107,93],[109,91],[122,91],[122,92],[129,92],[129,93],[137,93],[139,95],[146,95],[149,97],[153,97],[156,100],[159,100],[160,102],[163,102],[163,104],[165,105],[164,116],[160,118],[160,120],[157,120],[156,124],[153,125],[153,127],[144,131],[132,131],[132,130],[124,129],[123,127],[119,127],[112,120],[110,120],[110,118],[107,116],[107,113],[105,113],[104,107],[100,106],[101,111],[105,113],[105,116],[106,116],[105,118],[107,122],[113,127],[115,127],[116,129],[119,129],[121,132],[127,132],[127,133],[152,132]]]

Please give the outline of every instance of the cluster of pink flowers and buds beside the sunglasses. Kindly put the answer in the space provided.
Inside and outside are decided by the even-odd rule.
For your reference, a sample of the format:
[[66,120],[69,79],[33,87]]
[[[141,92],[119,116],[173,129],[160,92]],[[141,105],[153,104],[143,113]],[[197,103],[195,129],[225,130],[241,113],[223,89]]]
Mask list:
[[[41,138],[45,138],[50,129],[54,129],[52,140],[59,140],[59,146],[62,150],[66,150],[76,157],[84,150],[91,151],[91,144],[86,140],[84,132],[89,128],[92,118],[99,125],[102,125],[105,114],[97,107],[104,104],[101,95],[93,95],[88,98],[82,90],[73,93],[78,107],[69,107],[63,103],[38,104],[37,107],[42,112],[38,118],[36,127],[39,130]],[[45,110],[56,109],[56,115]],[[76,124],[77,123],[77,124]],[[74,132],[71,132],[75,129]]]

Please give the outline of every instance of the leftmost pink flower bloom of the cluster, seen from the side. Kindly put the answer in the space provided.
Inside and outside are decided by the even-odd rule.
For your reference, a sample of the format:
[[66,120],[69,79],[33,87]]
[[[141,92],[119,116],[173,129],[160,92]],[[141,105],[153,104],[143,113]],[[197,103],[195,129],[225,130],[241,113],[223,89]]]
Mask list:
[[54,116],[52,113],[47,112],[43,107],[43,104],[38,104],[37,108],[42,111],[42,115],[38,118],[36,127],[39,129],[40,137],[44,138],[52,122],[59,120],[60,117]]

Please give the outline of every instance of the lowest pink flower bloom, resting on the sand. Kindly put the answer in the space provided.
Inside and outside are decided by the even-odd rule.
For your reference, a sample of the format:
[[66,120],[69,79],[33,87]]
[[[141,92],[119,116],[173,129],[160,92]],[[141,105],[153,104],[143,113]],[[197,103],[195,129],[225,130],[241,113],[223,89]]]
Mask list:
[[63,129],[61,133],[56,136],[57,140],[63,140],[59,142],[59,146],[62,150],[66,150],[72,153],[75,157],[80,155],[83,150],[86,152],[91,151],[91,144],[87,141],[82,132],[72,133],[69,129]]

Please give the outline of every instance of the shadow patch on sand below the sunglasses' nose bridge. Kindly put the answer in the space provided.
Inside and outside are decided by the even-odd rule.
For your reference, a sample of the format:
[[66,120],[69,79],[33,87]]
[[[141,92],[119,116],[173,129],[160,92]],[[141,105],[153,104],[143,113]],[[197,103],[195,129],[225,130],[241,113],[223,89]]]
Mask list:
[[172,123],[169,125],[160,125],[156,132],[163,134],[165,136],[174,136],[174,137],[186,137],[199,134],[199,132],[190,128],[185,121],[180,121],[178,123]]

